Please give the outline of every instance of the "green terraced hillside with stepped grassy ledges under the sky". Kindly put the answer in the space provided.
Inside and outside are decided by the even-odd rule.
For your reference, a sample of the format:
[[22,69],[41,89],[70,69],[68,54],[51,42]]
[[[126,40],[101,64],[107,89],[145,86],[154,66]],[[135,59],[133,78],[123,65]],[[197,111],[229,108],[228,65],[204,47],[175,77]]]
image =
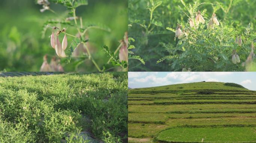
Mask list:
[[130,143],[255,143],[256,91],[196,82],[128,92]]

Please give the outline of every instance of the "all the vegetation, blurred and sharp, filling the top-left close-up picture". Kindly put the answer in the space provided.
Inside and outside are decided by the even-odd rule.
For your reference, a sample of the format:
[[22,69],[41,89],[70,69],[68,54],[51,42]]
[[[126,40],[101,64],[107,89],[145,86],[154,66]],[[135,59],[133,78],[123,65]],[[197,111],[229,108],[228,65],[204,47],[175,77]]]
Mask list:
[[0,13],[0,71],[127,71],[125,0],[1,0]]

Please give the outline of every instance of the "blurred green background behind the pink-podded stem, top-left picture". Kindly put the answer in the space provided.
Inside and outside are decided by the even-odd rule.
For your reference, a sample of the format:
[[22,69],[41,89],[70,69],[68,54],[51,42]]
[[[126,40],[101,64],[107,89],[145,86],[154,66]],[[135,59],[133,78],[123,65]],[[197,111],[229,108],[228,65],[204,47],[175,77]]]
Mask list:
[[[119,45],[128,25],[127,0],[88,0],[87,6],[76,9],[77,16],[83,18],[84,25],[100,23],[111,29],[111,32],[91,29],[88,32],[91,53],[100,67],[109,60],[101,46],[109,46],[111,51]],[[39,71],[43,63],[43,55],[48,54],[48,62],[57,56],[51,47],[51,28],[46,30],[42,38],[45,22],[51,19],[68,17],[67,10],[60,4],[51,3],[50,11],[40,12],[41,5],[35,0],[1,0],[0,1],[0,71]],[[65,25],[51,25],[64,28]],[[65,27],[66,28],[66,27]],[[76,30],[69,27],[67,33],[76,35]],[[60,35],[60,40],[63,38]],[[72,37],[67,36],[68,46]],[[67,52],[66,52],[67,53]],[[91,61],[72,58],[71,63],[61,59],[65,71],[97,71]],[[118,68],[112,70],[119,70]]]

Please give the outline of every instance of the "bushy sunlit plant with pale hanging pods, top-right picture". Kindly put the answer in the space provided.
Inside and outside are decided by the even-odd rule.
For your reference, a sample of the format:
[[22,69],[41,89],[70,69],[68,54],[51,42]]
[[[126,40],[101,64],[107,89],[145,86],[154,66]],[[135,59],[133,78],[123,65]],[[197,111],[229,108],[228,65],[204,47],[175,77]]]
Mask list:
[[[254,64],[255,35],[250,23],[240,33],[218,19],[214,12],[207,13],[207,9],[200,12],[198,6],[204,3],[196,0],[187,6],[183,0],[180,1],[184,8],[179,8],[188,20],[181,20],[176,29],[167,28],[175,33],[176,45],[163,44],[169,55],[157,63],[168,59],[170,70],[174,71],[253,70],[248,68]],[[205,13],[211,16],[206,17]]]

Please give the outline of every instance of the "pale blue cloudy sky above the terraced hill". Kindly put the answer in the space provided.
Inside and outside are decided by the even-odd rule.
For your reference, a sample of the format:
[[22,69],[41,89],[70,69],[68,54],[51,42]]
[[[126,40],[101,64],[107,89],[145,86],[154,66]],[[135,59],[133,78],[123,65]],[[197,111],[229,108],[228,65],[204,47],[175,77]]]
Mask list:
[[256,72],[128,72],[129,88],[146,88],[177,83],[232,82],[256,90]]

